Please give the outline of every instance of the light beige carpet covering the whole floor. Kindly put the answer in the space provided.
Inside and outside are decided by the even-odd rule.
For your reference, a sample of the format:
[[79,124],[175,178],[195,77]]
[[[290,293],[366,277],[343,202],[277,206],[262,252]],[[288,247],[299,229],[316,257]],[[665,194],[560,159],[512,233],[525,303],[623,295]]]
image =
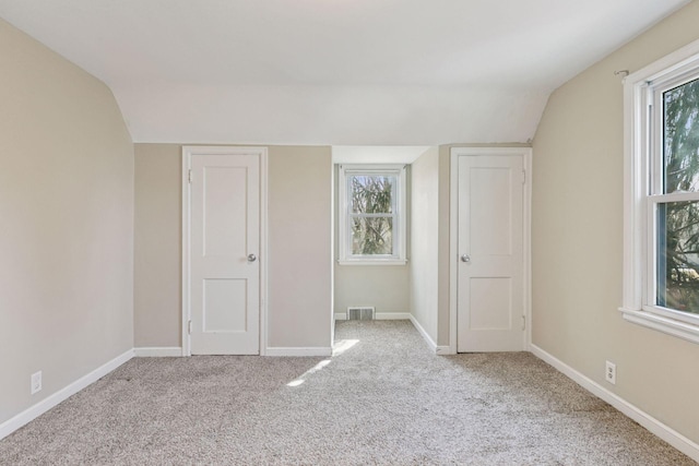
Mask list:
[[336,338],[328,359],[132,359],[1,441],[0,463],[695,464],[529,354],[435,356],[407,321]]

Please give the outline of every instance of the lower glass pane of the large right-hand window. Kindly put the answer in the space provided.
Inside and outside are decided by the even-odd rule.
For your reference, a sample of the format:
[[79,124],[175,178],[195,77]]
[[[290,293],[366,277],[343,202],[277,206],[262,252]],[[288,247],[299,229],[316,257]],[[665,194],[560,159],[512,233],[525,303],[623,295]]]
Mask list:
[[657,206],[657,306],[699,313],[699,202]]

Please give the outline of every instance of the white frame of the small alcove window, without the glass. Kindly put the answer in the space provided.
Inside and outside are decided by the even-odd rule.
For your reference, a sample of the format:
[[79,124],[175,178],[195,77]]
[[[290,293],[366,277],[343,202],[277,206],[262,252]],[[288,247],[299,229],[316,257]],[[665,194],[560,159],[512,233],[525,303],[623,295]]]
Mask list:
[[[405,255],[406,249],[406,166],[405,165],[355,165],[342,164],[339,166],[339,189],[337,189],[337,206],[339,206],[339,259],[340,265],[404,265],[407,262]],[[350,205],[351,187],[348,184],[350,177],[356,175],[366,176],[394,176],[396,178],[395,199],[393,202],[393,229],[391,237],[393,239],[393,251],[391,255],[359,255],[352,253],[352,231],[350,231],[352,223],[350,217],[353,215]],[[389,215],[387,215],[389,216]]]

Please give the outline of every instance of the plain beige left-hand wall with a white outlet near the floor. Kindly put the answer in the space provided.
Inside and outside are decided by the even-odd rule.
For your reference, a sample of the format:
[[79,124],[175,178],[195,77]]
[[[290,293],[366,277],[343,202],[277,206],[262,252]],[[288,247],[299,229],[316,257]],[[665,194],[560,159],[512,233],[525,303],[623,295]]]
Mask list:
[[102,82],[2,20],[0,70],[1,423],[133,347],[133,148]]

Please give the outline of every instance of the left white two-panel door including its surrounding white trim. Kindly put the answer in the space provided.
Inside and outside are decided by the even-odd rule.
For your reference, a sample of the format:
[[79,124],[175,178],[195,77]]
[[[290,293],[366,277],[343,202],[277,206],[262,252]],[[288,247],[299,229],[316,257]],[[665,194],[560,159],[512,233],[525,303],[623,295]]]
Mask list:
[[235,147],[185,151],[191,170],[189,228],[185,226],[190,354],[258,355],[260,153]]

